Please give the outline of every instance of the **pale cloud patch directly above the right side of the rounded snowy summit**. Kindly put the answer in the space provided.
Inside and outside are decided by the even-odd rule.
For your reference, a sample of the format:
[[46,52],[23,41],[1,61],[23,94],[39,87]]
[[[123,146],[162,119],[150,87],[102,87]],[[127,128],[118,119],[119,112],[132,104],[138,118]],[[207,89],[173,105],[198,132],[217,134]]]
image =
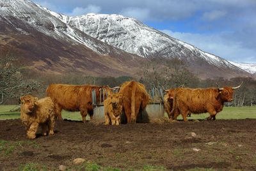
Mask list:
[[147,8],[125,8],[120,12],[120,15],[126,17],[132,17],[134,19],[144,21],[147,20],[150,14],[150,10]]

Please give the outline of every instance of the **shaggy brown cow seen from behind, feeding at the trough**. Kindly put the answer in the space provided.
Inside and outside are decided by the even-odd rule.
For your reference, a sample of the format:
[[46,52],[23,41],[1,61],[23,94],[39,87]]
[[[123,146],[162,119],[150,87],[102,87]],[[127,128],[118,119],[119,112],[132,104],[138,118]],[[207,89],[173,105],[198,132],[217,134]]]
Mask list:
[[148,93],[145,86],[134,80],[125,82],[119,94],[123,94],[123,105],[127,123],[136,123],[137,115],[142,112],[148,104]]

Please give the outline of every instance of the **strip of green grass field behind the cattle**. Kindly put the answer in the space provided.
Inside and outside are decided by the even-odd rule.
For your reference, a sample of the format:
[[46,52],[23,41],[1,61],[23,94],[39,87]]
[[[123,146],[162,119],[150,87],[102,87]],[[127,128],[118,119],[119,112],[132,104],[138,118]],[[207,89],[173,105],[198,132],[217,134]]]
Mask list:
[[[17,105],[0,105],[0,120],[17,119],[20,117],[20,112],[10,112],[17,108]],[[63,119],[71,119],[74,121],[82,121],[80,112],[68,112],[63,110],[61,113]],[[166,114],[165,114],[166,115]],[[167,115],[166,115],[167,116]],[[188,119],[205,119],[209,114],[191,114]],[[256,107],[224,107],[223,110],[216,115],[216,119],[256,119]],[[86,117],[90,119],[90,117]],[[179,115],[178,119],[182,119]]]

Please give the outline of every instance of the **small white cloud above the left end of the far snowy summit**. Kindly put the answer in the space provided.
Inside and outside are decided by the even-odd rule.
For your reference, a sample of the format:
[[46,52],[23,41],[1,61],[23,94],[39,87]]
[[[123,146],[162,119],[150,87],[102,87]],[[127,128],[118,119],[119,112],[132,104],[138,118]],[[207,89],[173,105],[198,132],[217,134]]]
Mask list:
[[86,13],[99,13],[101,11],[100,6],[95,5],[88,5],[86,8],[82,7],[76,7],[74,10],[72,10],[72,13],[66,13],[68,16],[78,16],[78,15],[84,15]]

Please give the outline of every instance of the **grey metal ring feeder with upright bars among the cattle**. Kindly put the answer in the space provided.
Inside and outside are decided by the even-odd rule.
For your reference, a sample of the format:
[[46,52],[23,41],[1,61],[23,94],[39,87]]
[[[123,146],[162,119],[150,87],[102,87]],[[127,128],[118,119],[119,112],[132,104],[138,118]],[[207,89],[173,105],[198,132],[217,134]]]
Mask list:
[[[104,94],[108,97],[106,89],[100,90],[100,100],[101,94],[104,97]],[[95,89],[92,91],[93,98],[93,120],[102,123],[105,122],[105,114],[104,114],[104,105],[103,101],[100,103],[96,103],[95,99]],[[150,94],[150,103],[148,103],[145,110],[143,110],[137,116],[137,123],[149,123],[150,119],[161,119],[164,117],[164,98],[163,98],[163,89],[162,87],[153,87],[148,90],[148,94]],[[127,123],[127,118],[124,114],[124,111],[121,115],[121,123]]]

